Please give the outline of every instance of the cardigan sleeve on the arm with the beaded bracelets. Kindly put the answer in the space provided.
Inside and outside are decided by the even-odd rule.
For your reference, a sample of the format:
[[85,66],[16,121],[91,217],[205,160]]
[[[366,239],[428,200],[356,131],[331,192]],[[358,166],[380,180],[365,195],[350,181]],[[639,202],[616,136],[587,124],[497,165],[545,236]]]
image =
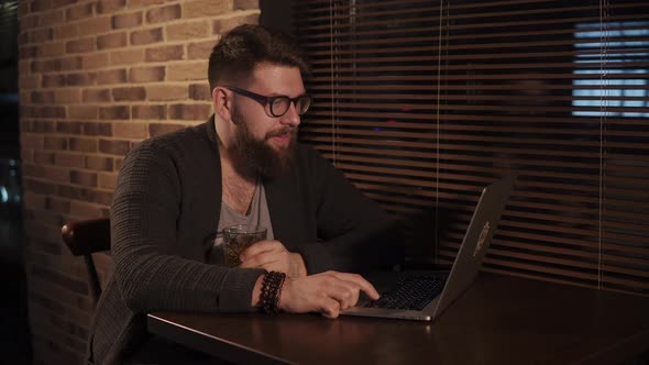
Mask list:
[[182,187],[173,158],[143,142],[124,159],[111,207],[111,244],[127,306],[139,312],[248,311],[262,269],[226,268],[179,257]]

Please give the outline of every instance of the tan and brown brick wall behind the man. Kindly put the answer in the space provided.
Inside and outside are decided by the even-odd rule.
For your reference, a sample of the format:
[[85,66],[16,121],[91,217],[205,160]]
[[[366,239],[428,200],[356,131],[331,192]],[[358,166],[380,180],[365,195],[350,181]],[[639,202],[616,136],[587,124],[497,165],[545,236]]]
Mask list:
[[[124,154],[211,113],[207,57],[258,0],[20,4],[25,259],[35,363],[80,364],[91,301],[65,221],[106,217]],[[107,255],[96,257],[103,272]]]

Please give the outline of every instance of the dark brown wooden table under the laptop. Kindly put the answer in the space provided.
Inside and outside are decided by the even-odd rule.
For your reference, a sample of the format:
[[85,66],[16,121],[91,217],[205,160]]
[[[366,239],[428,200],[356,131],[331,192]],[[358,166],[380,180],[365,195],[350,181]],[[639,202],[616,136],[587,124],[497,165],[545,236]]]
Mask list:
[[649,350],[649,298],[483,273],[432,323],[157,312],[147,325],[240,364],[617,364]]

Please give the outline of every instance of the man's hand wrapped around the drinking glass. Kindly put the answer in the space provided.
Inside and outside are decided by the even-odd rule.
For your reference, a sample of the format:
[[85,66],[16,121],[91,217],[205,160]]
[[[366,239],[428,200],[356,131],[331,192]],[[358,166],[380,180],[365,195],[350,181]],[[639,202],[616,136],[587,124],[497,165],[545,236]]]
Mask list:
[[239,256],[245,268],[265,268],[268,272],[286,273],[289,278],[307,276],[300,254],[289,252],[279,241],[260,241],[245,248]]

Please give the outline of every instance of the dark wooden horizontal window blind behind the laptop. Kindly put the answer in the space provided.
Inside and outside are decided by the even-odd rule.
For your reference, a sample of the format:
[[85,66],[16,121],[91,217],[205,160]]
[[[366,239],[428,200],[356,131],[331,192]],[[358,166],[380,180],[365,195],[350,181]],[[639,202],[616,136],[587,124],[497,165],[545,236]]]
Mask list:
[[519,178],[484,269],[649,294],[649,2],[307,0],[300,140],[450,264]]

